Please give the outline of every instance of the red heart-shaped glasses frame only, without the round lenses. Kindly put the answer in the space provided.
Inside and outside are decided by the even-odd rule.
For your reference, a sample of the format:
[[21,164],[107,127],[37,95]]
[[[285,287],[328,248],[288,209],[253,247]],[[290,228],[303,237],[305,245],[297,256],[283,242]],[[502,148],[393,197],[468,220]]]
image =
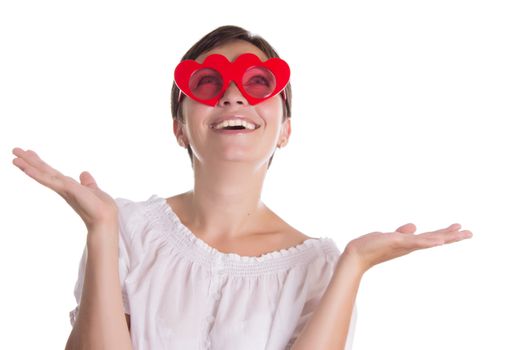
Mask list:
[[[275,78],[275,88],[270,94],[264,97],[250,95],[243,85],[242,78],[244,73],[253,67],[266,68],[273,74]],[[223,81],[223,84],[218,93],[209,99],[199,98],[192,92],[190,87],[191,76],[203,68],[210,68],[217,71],[221,75]],[[286,100],[286,92],[284,89],[290,80],[290,67],[284,60],[277,57],[273,57],[262,62],[255,54],[245,53],[238,56],[235,61],[230,62],[223,55],[212,54],[206,57],[202,64],[195,60],[184,60],[180,62],[175,68],[174,78],[175,84],[179,88],[178,102],[181,101],[182,94],[184,93],[184,95],[192,98],[195,101],[209,106],[215,106],[222,98],[226,89],[228,89],[230,86],[230,83],[233,81],[246,100],[251,105],[255,105],[281,92],[283,93],[283,98]]]

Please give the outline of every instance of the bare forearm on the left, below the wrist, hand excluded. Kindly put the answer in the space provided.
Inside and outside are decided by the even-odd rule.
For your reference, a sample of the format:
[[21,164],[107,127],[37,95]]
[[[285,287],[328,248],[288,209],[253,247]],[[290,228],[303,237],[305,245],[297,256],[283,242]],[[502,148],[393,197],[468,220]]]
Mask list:
[[118,222],[88,232],[84,286],[66,350],[132,349],[118,271]]

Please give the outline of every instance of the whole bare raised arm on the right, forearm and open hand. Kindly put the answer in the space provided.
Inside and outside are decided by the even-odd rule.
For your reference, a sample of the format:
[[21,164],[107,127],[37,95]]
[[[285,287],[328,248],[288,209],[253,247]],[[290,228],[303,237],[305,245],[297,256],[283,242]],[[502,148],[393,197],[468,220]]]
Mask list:
[[372,266],[406,255],[471,238],[461,225],[414,235],[416,226],[406,224],[395,232],[372,232],[352,240],[337,262],[323,297],[292,350],[344,350],[352,311],[364,273]]

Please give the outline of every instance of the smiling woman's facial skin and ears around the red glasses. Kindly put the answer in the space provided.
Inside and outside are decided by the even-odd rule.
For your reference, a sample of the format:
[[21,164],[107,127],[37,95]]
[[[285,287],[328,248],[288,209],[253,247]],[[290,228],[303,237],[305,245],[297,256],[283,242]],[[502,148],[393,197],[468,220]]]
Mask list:
[[[216,47],[197,57],[202,63],[211,54],[218,53],[234,61],[243,53],[253,53],[262,61],[268,57],[256,46],[236,40]],[[284,145],[290,135],[290,118],[283,122],[283,102],[277,94],[252,106],[231,82],[216,106],[209,106],[185,96],[181,104],[184,124],[174,121],[174,132],[187,146],[191,146],[194,162],[201,164],[250,162],[257,168],[267,165],[277,145]],[[224,133],[212,128],[218,120],[239,116],[259,125],[245,133]]]

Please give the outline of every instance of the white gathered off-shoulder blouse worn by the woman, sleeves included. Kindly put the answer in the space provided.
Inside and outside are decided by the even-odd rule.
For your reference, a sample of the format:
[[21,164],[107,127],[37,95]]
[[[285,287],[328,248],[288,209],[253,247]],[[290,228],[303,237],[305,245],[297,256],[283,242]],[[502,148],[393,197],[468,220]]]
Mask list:
[[[258,257],[223,253],[152,195],[119,208],[119,275],[133,349],[289,349],[315,311],[340,251],[330,238]],[[84,249],[75,285],[84,284]],[[354,308],[345,349],[351,348]]]

